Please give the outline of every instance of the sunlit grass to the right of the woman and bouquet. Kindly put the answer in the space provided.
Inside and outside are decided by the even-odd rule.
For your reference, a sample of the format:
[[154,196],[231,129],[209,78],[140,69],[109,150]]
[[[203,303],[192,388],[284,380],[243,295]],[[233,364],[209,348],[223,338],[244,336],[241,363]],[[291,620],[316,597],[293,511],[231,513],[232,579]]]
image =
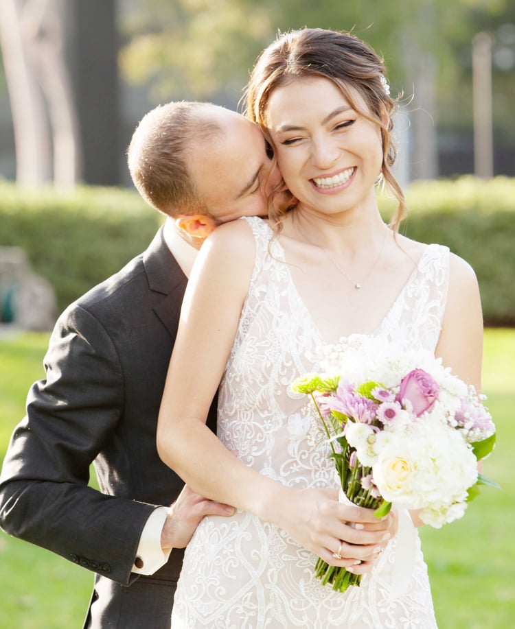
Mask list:
[[506,629],[515,621],[515,330],[485,331],[483,392],[497,427],[484,473],[502,489],[482,488],[459,521],[420,535],[439,629]]

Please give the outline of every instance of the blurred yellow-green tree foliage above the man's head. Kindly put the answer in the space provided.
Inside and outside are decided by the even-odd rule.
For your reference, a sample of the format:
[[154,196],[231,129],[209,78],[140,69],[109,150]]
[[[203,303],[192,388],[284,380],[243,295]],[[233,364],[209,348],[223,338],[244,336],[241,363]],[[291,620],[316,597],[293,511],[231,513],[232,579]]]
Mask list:
[[241,91],[248,68],[273,38],[266,5],[240,0],[133,2],[121,25],[120,64],[152,99],[200,99]]

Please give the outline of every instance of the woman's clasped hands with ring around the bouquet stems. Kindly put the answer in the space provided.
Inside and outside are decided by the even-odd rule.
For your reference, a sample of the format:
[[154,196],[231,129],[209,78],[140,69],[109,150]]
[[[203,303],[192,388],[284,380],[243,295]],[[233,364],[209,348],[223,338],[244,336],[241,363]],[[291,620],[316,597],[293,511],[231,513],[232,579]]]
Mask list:
[[371,571],[397,531],[395,512],[379,519],[371,509],[340,503],[336,490],[284,488],[279,497],[271,521],[329,565],[354,573]]

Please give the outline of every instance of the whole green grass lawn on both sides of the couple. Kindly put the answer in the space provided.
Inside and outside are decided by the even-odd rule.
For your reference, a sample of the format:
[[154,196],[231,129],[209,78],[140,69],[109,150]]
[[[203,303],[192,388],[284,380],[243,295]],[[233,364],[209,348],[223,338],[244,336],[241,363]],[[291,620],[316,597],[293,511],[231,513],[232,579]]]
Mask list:
[[[23,416],[30,384],[43,375],[47,334],[0,332],[0,456]],[[439,629],[515,626],[515,330],[487,330],[483,390],[497,425],[497,447],[484,472],[502,490],[483,488],[464,519],[440,530],[424,527]],[[512,448],[514,451],[512,452]],[[0,533],[0,629],[82,626],[93,574]]]

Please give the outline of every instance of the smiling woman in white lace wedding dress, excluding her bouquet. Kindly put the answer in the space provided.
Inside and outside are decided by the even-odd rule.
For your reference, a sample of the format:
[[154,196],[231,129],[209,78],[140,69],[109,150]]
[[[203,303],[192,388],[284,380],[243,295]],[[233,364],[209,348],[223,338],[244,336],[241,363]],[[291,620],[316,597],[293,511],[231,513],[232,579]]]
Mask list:
[[[194,490],[237,511],[204,519],[187,547],[174,629],[436,626],[416,534],[400,584],[406,525],[396,534],[395,514],[377,521],[336,501],[328,444],[289,387],[317,370],[321,346],[364,333],[434,351],[479,390],[474,272],[446,247],[398,234],[394,106],[381,60],[350,34],[284,34],[253,69],[247,114],[273,146],[292,204],[218,228],[187,288],[158,449]],[[379,178],[399,201],[391,227]],[[220,380],[217,438],[205,416]],[[361,586],[323,586],[317,557],[362,573]]]

